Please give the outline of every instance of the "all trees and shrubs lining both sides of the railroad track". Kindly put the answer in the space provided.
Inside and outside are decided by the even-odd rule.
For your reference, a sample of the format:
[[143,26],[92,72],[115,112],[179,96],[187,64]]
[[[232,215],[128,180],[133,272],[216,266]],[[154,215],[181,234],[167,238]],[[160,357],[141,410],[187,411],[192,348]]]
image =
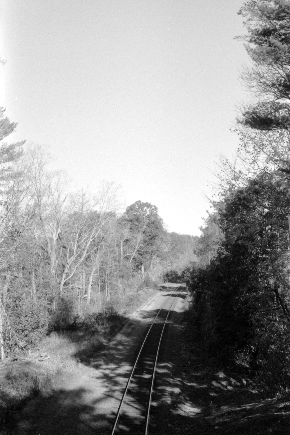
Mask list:
[[290,2],[250,0],[239,14],[250,102],[199,237],[168,232],[148,202],[122,210],[113,183],[71,189],[42,147],[6,142],[17,124],[0,109],[1,361],[96,313],[126,314],[144,289],[183,279],[203,356],[289,394]]

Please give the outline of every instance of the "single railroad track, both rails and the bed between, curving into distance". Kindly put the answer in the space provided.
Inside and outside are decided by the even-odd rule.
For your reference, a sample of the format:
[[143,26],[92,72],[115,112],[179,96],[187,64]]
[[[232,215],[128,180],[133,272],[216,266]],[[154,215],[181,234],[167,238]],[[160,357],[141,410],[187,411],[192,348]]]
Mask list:
[[184,286],[180,286],[171,291],[154,318],[127,381],[111,435],[148,434],[154,377],[163,332],[180,291],[184,289]]

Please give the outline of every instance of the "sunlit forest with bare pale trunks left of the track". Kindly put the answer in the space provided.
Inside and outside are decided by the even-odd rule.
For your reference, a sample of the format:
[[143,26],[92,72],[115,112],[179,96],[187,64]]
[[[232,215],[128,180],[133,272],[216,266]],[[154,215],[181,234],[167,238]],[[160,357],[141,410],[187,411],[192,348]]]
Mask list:
[[169,233],[158,209],[120,213],[118,187],[71,191],[41,147],[7,143],[0,111],[0,359],[93,313],[130,311],[138,292],[182,273],[197,239]]

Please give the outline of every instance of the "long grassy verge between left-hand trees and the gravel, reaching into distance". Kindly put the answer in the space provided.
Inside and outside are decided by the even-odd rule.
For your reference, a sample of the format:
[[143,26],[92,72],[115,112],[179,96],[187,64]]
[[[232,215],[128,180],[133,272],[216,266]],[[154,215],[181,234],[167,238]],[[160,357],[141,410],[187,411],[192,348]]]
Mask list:
[[[127,315],[156,294],[140,289],[120,312],[108,305],[104,313],[92,313],[70,330],[53,331],[28,354],[7,358],[0,364],[0,434],[10,434],[13,419],[32,398],[56,388],[63,378],[69,382],[81,363],[108,343],[127,322]],[[119,308],[119,307],[118,307]],[[126,313],[126,314],[125,314]]]

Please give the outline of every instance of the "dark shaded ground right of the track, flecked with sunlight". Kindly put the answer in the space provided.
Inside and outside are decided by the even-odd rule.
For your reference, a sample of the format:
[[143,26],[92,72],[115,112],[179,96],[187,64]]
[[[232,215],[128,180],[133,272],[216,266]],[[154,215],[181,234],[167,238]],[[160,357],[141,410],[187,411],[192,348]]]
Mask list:
[[263,400],[249,379],[207,367],[174,313],[160,352],[150,434],[290,433],[290,404]]

